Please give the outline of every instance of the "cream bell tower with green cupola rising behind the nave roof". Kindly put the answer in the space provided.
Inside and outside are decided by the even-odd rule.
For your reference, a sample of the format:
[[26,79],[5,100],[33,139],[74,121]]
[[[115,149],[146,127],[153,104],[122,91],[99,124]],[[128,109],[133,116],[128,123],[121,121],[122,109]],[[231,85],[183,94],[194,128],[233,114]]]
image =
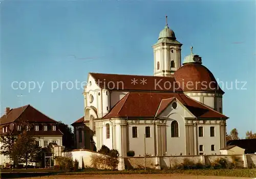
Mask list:
[[167,23],[160,32],[154,49],[154,76],[172,76],[181,67],[181,46],[176,40],[175,33]]

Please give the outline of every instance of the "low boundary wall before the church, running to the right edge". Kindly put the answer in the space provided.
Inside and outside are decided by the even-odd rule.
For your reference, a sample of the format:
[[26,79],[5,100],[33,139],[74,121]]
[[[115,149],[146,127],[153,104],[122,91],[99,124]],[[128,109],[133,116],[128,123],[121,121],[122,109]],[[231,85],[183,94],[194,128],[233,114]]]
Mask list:
[[[218,159],[226,159],[230,166],[236,161],[238,167],[256,166],[256,155],[211,155],[211,156],[163,156],[163,157],[146,157],[146,168],[163,169],[174,168],[182,165],[184,162],[193,164],[202,164],[210,166]],[[120,158],[118,170],[124,169],[143,169],[145,165],[144,157]]]

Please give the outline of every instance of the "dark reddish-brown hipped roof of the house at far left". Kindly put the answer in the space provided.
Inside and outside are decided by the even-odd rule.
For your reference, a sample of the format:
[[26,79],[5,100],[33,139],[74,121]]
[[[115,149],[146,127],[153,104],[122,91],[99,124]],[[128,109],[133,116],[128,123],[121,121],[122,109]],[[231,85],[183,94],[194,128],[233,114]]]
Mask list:
[[8,114],[4,114],[0,118],[0,124],[7,124],[12,122],[46,122],[46,123],[56,123],[57,121],[51,119],[45,114],[41,113],[31,105],[26,105],[19,108],[11,109]]

